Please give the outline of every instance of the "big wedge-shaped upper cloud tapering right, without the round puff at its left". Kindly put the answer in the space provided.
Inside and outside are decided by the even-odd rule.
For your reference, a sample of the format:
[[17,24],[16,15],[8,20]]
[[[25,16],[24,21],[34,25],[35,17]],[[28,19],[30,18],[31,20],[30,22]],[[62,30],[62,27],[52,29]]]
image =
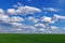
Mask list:
[[34,6],[20,6],[17,10],[16,10],[16,13],[21,13],[21,14],[34,14],[34,13],[38,13],[38,12],[41,12],[40,9],[37,9],[37,8],[34,8]]

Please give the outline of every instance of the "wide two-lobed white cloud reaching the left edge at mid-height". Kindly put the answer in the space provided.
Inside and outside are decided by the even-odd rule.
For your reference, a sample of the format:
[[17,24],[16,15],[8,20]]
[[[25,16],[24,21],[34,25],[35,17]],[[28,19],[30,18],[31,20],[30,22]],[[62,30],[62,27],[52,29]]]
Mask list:
[[0,14],[0,22],[8,23],[8,24],[20,23],[20,22],[24,22],[24,18],[22,18],[20,16],[9,17],[9,15]]

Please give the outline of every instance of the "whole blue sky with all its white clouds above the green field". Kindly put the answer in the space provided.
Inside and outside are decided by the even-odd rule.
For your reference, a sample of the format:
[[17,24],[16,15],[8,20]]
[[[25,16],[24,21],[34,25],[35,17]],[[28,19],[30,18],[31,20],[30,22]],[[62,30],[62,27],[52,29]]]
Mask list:
[[65,33],[65,0],[0,0],[0,32]]

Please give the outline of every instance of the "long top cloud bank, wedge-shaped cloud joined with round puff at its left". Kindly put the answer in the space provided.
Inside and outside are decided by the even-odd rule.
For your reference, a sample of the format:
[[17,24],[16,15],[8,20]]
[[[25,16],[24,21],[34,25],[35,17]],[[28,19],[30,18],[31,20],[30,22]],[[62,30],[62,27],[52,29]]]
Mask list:
[[40,9],[37,9],[37,8],[34,8],[34,6],[28,6],[28,5],[25,5],[25,6],[18,6],[16,10],[15,9],[8,9],[6,12],[9,14],[22,14],[22,15],[26,15],[26,14],[35,14],[35,13],[40,13],[41,10]]

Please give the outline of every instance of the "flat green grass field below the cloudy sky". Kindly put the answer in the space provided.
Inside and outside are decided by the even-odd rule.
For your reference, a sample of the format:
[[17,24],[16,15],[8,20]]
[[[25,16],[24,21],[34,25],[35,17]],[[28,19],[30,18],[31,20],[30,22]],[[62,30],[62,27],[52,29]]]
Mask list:
[[65,43],[65,34],[0,34],[0,43]]

